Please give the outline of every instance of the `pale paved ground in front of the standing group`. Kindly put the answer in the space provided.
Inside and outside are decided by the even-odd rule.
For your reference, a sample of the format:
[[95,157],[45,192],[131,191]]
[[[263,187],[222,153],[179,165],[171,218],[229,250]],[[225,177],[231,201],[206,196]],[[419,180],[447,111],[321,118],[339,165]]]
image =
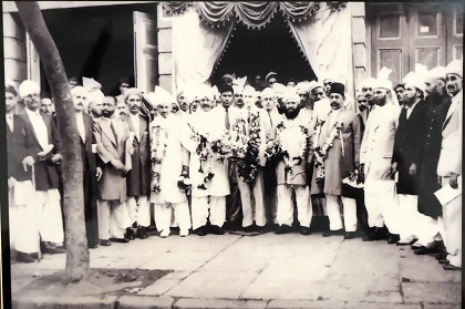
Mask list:
[[[17,305],[27,303],[21,299],[32,275],[50,275],[64,265],[65,255],[13,264]],[[433,256],[415,256],[410,247],[385,241],[324,238],[321,233],[151,236],[92,249],[91,267],[173,270],[137,293],[104,298],[107,307],[91,306],[91,299],[92,308],[462,307],[462,272],[444,271]],[[43,307],[34,308],[48,308],[52,300],[42,301]],[[62,308],[86,308],[70,306]]]

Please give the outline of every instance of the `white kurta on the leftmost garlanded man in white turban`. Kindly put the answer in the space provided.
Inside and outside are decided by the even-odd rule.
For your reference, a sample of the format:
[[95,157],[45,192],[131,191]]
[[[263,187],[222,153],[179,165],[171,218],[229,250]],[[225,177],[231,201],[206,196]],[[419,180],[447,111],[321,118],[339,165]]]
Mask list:
[[[157,127],[159,127],[158,136]],[[177,186],[183,171],[183,152],[187,152],[183,143],[189,138],[187,124],[183,119],[169,114],[166,119],[155,117],[151,123],[149,131],[152,148],[156,146],[157,138],[159,143],[166,143],[166,153],[163,155],[159,167],[161,190],[159,193],[151,192],[151,202],[157,204],[187,202],[185,192]]]

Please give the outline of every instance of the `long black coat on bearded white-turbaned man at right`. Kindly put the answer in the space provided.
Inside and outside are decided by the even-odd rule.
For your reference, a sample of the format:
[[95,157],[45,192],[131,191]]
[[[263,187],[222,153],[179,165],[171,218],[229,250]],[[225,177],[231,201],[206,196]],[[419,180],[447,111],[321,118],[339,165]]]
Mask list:
[[416,168],[421,166],[422,145],[426,132],[426,105],[421,100],[406,119],[406,109],[402,109],[399,126],[395,133],[394,153],[392,161],[397,163],[397,193],[416,195],[418,189],[418,174],[410,175],[412,163]]

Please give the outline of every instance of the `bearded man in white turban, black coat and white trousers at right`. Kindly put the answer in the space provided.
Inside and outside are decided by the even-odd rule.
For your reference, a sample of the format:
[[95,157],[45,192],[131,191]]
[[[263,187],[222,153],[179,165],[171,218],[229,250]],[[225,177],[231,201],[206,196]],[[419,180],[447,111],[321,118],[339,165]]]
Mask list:
[[399,207],[395,215],[395,229],[400,230],[400,244],[407,244],[418,238],[417,223],[420,213],[418,174],[422,164],[422,145],[426,132],[426,104],[424,78],[411,72],[404,78],[404,107],[399,117],[395,133],[392,172],[399,172],[396,184]]

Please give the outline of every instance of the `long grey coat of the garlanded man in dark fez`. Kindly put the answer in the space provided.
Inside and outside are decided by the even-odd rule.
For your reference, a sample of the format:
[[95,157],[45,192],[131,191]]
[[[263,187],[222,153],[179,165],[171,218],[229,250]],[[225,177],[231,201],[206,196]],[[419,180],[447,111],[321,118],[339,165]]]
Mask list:
[[[341,107],[340,113],[342,141],[338,134],[328,151],[328,156],[324,159],[324,182],[317,182],[317,168],[313,168],[310,194],[341,195],[342,179],[355,169],[354,154],[360,152],[360,150],[354,144],[353,136],[360,134],[360,125],[354,125],[354,122],[358,121],[354,112],[347,110],[347,107]],[[321,126],[321,135],[318,141],[319,146],[326,143],[331,134],[331,128],[334,130],[330,127],[329,119],[330,114],[328,114],[327,121]],[[344,147],[344,155],[342,155],[342,146]]]

